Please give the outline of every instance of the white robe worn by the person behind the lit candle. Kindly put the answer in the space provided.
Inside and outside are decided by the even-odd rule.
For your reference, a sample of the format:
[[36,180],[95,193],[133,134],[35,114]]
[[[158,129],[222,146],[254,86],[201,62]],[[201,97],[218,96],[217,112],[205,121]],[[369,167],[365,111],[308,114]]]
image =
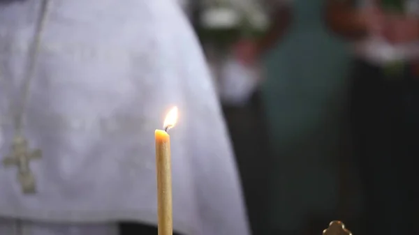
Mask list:
[[[0,5],[0,158],[15,134],[40,5]],[[154,129],[172,105],[174,229],[249,234],[219,102],[175,1],[52,0],[35,72],[23,130],[43,151],[30,163],[38,192],[22,194],[17,167],[0,167],[1,235],[10,218],[36,235],[104,234],[120,220],[155,225]]]

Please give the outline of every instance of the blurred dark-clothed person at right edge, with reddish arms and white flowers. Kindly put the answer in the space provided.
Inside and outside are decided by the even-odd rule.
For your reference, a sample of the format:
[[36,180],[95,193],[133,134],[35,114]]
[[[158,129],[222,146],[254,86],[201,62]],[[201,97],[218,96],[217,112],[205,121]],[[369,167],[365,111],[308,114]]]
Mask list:
[[419,1],[329,0],[325,14],[354,44],[350,118],[367,234],[415,234]]

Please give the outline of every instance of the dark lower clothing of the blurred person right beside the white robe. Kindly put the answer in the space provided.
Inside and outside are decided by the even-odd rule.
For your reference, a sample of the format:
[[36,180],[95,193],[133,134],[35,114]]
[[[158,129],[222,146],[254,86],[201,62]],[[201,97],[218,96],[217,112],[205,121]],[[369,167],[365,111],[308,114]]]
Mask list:
[[252,234],[267,234],[267,187],[271,155],[260,92],[243,107],[223,105],[239,167]]

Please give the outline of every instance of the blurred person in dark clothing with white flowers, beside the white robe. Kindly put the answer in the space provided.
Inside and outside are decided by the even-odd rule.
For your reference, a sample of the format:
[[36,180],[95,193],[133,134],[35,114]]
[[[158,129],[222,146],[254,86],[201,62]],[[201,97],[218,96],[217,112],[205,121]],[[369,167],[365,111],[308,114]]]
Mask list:
[[267,234],[272,156],[260,99],[261,59],[285,35],[291,23],[291,1],[209,2],[196,4],[199,14],[192,19],[223,104],[252,232]]

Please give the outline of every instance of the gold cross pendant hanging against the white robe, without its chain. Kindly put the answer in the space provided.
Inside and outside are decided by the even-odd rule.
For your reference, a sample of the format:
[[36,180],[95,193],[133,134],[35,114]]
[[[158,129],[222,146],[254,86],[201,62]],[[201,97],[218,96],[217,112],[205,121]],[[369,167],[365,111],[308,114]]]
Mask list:
[[36,193],[35,177],[29,168],[29,162],[39,158],[42,158],[41,150],[29,151],[27,140],[24,137],[17,136],[13,139],[12,153],[3,159],[5,167],[17,166],[17,179],[22,185],[24,194]]

